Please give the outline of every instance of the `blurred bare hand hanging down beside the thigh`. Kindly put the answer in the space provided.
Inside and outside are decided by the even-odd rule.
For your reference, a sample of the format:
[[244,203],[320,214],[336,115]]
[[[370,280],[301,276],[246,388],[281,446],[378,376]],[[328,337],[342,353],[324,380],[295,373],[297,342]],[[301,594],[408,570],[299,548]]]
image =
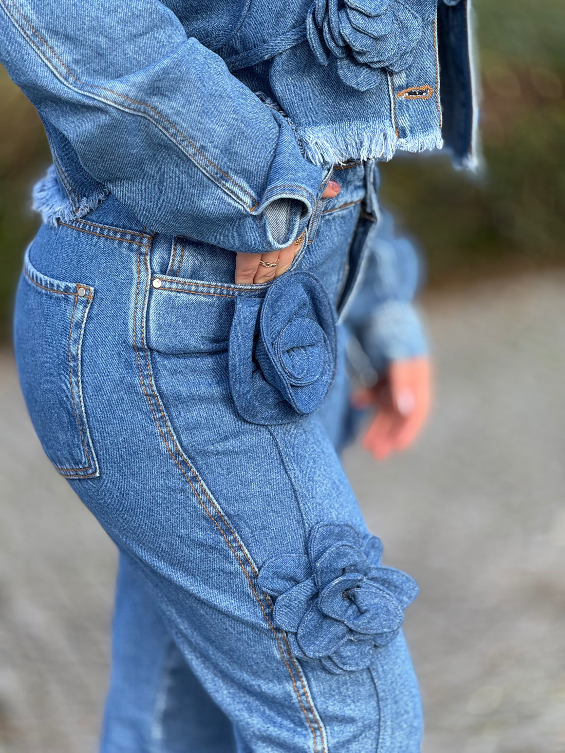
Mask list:
[[420,433],[432,398],[429,358],[393,361],[386,377],[371,389],[353,395],[356,407],[373,406],[377,415],[365,433],[363,447],[377,460],[394,450],[405,450]]

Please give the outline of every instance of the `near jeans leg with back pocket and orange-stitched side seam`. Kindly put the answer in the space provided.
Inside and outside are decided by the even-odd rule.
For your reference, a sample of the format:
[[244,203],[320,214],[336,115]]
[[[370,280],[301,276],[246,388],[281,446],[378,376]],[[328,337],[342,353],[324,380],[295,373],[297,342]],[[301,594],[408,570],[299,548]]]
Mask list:
[[[241,418],[226,338],[247,292],[163,284],[151,270],[158,239],[116,230],[109,202],[77,227],[43,228],[20,285],[18,367],[47,453],[143,572],[241,750],[414,753],[419,701],[402,635],[378,651],[348,644],[355,660],[371,651],[338,671],[331,620],[346,623],[326,620],[322,593],[307,593],[308,568],[326,555],[337,566],[328,526],[353,536],[346,548],[368,541],[327,432],[316,416]],[[77,453],[87,465],[65,460]],[[280,562],[294,575],[276,575]],[[306,592],[285,616],[275,596],[292,578]]]

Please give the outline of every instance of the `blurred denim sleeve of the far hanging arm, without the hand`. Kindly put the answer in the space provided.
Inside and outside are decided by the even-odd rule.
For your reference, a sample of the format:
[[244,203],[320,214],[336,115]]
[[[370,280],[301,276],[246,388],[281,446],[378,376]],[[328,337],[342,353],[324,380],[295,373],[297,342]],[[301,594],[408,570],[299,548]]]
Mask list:
[[390,361],[426,355],[428,350],[413,304],[420,288],[420,257],[408,239],[395,236],[387,212],[381,212],[378,221],[365,276],[344,322],[377,373]]

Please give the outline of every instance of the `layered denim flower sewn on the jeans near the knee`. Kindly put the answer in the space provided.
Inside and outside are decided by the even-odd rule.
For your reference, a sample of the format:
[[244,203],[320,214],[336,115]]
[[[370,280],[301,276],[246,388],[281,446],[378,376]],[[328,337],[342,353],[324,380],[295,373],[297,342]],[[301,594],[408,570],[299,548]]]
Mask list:
[[365,669],[399,633],[403,610],[418,593],[406,573],[380,564],[382,547],[347,524],[319,523],[307,556],[267,560],[258,584],[276,596],[274,620],[298,656],[333,672]]

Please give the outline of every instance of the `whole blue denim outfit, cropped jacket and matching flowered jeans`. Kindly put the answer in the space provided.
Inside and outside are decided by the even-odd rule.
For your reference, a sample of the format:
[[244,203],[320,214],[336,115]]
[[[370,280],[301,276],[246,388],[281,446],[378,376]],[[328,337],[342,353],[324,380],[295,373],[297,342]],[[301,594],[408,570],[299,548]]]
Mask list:
[[[376,163],[474,159],[468,5],[0,0],[53,153],[20,380],[121,552],[103,753],[420,748],[417,586],[336,449],[347,331],[376,370],[425,352]],[[234,283],[234,252],[302,233],[289,272]]]

